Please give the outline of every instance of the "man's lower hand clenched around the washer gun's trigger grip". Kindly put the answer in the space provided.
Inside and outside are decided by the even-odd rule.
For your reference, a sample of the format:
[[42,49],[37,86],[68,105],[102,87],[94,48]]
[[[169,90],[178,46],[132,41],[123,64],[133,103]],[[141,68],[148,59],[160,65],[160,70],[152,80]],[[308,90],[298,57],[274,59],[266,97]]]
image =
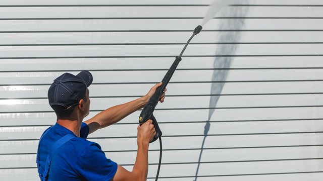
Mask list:
[[148,143],[153,139],[156,134],[155,128],[152,124],[152,120],[148,120],[142,125],[138,126],[137,142]]

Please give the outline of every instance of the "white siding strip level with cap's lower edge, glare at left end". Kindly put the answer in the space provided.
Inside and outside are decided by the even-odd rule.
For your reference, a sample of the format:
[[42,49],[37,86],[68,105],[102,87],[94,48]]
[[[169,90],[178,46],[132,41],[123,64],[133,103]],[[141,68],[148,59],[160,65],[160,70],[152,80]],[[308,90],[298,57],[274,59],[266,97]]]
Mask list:
[[[216,108],[275,108],[275,107],[313,107],[323,105],[322,95],[261,95],[261,96],[226,96],[221,97]],[[114,105],[132,101],[133,98],[93,98],[91,110],[105,110]],[[159,104],[157,109],[208,109],[210,97],[169,97],[167,104]],[[2,113],[52,111],[46,99],[0,100]]]

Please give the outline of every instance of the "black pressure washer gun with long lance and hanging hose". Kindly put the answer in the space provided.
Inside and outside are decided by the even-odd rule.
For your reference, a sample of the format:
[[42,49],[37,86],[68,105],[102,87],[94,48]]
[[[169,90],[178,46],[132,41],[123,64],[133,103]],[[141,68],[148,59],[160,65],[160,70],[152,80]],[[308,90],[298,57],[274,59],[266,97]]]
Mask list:
[[161,82],[163,82],[163,84],[161,84],[155,91],[155,93],[152,95],[152,97],[149,99],[148,103],[144,106],[144,108],[142,109],[140,116],[139,116],[139,123],[140,125],[142,125],[143,123],[145,123],[146,121],[148,121],[149,119],[152,120],[152,124],[155,127],[155,131],[156,134],[153,137],[153,139],[150,141],[150,143],[156,141],[159,138],[159,145],[160,145],[160,152],[159,152],[159,163],[158,163],[158,168],[157,168],[157,174],[156,174],[156,179],[158,179],[158,175],[159,175],[159,170],[160,170],[160,164],[161,164],[161,153],[163,151],[162,149],[162,144],[161,144],[161,135],[162,132],[158,126],[158,123],[156,121],[156,118],[153,116],[153,111],[155,110],[155,107],[158,104],[159,99],[161,98],[161,95],[163,95],[164,90],[167,86],[167,84],[169,83],[169,81],[171,80],[177,65],[179,64],[179,62],[182,60],[182,55],[187,47],[187,45],[190,43],[190,41],[192,40],[192,38],[199,34],[200,31],[202,30],[202,26],[197,26],[194,29],[193,35],[190,37],[190,39],[187,41],[187,43],[185,44],[182,52],[180,53],[179,56],[177,56],[175,58],[174,63],[172,64],[172,66],[170,67],[170,69],[167,71],[166,75],[164,76],[163,80],[161,80]]

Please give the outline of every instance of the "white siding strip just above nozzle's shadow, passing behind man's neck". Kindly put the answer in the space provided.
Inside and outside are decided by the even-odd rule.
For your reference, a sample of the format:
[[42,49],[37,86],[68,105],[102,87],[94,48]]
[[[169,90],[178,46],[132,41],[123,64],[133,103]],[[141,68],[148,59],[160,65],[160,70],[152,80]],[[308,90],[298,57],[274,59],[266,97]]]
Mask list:
[[[208,104],[208,103],[207,103]],[[48,106],[49,107],[49,106]],[[159,105],[158,105],[159,107]],[[158,108],[157,107],[157,108]],[[106,107],[107,108],[107,107]],[[50,108],[49,108],[50,109]],[[265,110],[265,111],[264,111]],[[208,120],[207,109],[196,110],[155,110],[154,115],[158,122],[196,122]],[[210,121],[252,121],[252,120],[299,120],[299,119],[322,119],[322,107],[300,107],[300,108],[271,108],[271,109],[216,109]],[[85,118],[89,119],[98,112],[90,112]],[[140,112],[137,111],[121,123],[137,123]],[[1,114],[4,119],[3,125],[53,125],[56,117],[53,113],[8,113]],[[185,116],[178,116],[185,115]],[[26,117],[24,119],[24,117]],[[12,123],[6,122],[9,118],[14,118]],[[35,119],[33,119],[35,118]]]

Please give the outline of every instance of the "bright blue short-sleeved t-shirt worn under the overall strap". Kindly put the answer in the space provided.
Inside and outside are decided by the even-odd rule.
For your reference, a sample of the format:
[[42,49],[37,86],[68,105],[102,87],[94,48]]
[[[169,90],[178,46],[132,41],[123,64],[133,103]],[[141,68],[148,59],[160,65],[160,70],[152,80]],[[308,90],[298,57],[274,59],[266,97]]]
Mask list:
[[111,180],[116,174],[117,163],[105,157],[99,144],[86,139],[89,133],[86,123],[82,123],[80,137],[58,123],[44,133],[38,152],[42,170],[51,146],[67,134],[75,136],[53,155],[48,180]]

